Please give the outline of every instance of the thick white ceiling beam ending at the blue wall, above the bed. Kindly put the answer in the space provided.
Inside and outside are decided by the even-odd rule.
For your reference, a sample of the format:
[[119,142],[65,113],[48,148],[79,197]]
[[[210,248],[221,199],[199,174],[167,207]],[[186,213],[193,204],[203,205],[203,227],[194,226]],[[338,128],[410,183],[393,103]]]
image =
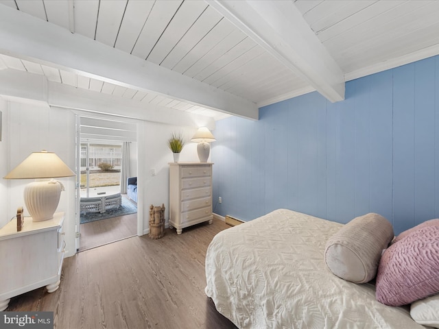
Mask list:
[[294,1],[206,0],[331,102],[344,99],[344,73]]

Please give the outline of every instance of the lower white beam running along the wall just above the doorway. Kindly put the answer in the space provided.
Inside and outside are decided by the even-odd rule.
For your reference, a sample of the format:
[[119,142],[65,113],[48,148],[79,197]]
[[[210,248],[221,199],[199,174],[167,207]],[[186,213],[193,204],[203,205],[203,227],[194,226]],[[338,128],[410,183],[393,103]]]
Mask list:
[[0,98],[16,101],[38,101],[49,106],[110,114],[128,119],[138,119],[187,127],[206,126],[215,129],[211,117],[140,103],[91,90],[48,82],[44,75],[5,69],[0,71]]

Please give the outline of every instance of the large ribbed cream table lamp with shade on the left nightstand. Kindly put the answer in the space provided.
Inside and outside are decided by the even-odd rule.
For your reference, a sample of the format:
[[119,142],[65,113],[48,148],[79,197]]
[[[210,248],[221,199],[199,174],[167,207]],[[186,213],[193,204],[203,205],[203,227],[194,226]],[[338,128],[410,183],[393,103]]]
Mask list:
[[56,154],[48,151],[34,152],[15,169],[5,175],[6,180],[25,180],[34,178],[35,182],[25,186],[25,206],[32,221],[45,221],[54,218],[64,186],[53,179],[74,176]]

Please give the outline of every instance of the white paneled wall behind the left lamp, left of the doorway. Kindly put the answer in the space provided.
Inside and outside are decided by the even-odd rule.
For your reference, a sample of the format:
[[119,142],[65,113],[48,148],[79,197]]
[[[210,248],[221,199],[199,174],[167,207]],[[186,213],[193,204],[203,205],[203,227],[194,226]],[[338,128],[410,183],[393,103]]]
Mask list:
[[[8,102],[8,163],[6,171],[14,169],[33,151],[53,151],[71,168],[75,169],[75,115],[69,110],[49,108],[40,102]],[[3,122],[4,124],[4,122]],[[3,143],[3,142],[1,142]],[[75,254],[75,178],[58,179],[64,184],[57,211],[66,212],[66,256]],[[3,184],[4,184],[3,180]],[[16,208],[24,206],[23,189],[28,180],[7,180],[8,217]],[[28,216],[25,208],[25,215]]]

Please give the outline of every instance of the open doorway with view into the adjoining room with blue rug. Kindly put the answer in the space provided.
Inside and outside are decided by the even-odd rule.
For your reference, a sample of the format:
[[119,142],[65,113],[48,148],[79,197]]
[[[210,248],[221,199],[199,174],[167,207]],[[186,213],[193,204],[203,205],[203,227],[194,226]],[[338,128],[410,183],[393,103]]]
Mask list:
[[126,180],[137,176],[137,125],[114,119],[77,119],[76,250],[138,233],[137,203]]

